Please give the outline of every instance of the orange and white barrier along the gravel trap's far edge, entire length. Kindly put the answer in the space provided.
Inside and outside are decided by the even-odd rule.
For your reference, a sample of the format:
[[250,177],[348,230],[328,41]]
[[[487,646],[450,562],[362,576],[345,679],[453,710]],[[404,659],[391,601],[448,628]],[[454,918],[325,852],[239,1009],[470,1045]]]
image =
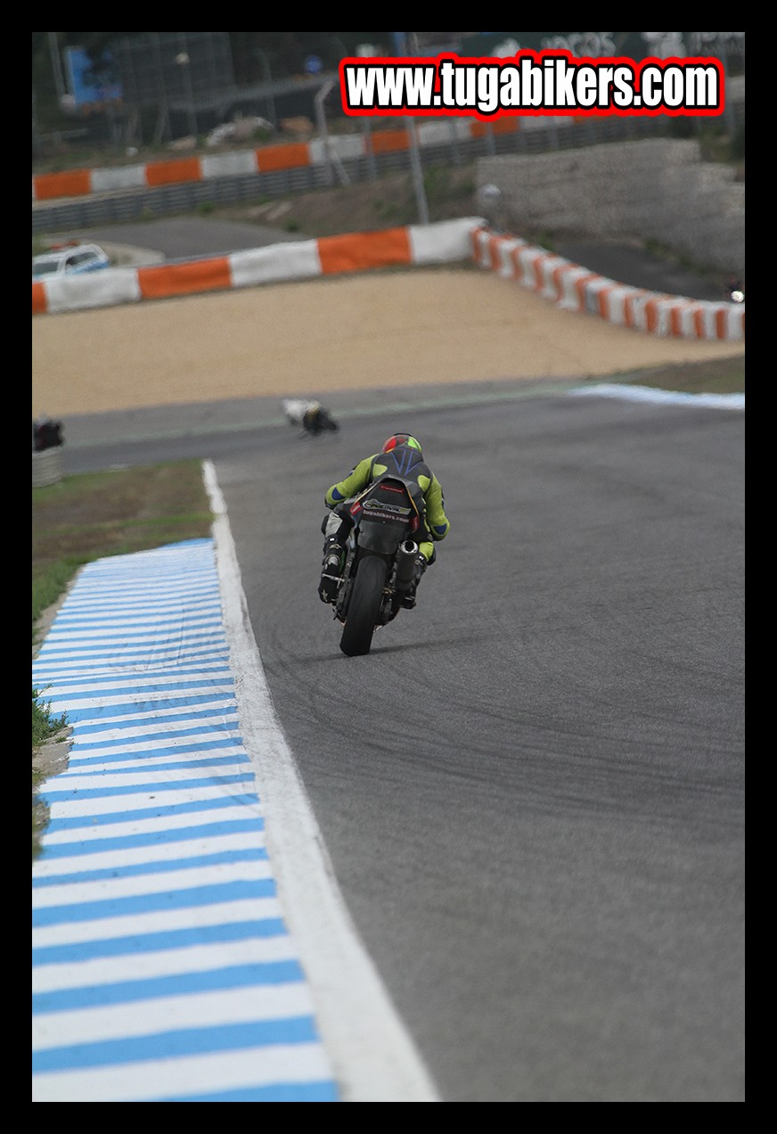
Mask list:
[[563,256],[485,227],[481,217],[284,242],[148,268],[105,268],[33,284],[33,315],[169,299],[282,280],[475,259],[565,311],[587,311],[651,335],[744,340],[743,303],[661,295],[597,276]]

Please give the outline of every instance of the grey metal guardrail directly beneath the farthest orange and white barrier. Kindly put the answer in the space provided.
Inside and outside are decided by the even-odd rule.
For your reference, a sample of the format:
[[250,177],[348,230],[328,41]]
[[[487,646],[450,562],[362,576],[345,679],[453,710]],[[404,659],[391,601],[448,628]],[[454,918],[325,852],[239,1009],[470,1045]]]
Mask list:
[[[744,102],[735,105],[737,125],[744,121]],[[422,163],[437,166],[469,164],[478,158],[498,154],[547,153],[624,142],[644,137],[665,137],[669,122],[663,118],[587,118],[562,126],[521,129],[513,134],[486,134],[472,141],[424,146]],[[383,174],[410,169],[407,150],[368,158],[343,158],[342,167],[351,181],[366,181]],[[241,174],[206,181],[182,181],[154,188],[126,189],[89,197],[33,204],[33,235],[56,234],[75,228],[193,212],[202,205],[230,205],[261,197],[281,197],[330,186],[324,166],[300,166],[267,174]]]

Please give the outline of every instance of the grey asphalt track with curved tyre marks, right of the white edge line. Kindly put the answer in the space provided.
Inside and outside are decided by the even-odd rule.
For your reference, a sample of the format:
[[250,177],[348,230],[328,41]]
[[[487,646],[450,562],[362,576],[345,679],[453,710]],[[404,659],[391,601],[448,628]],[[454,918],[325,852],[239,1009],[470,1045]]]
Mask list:
[[308,485],[394,428],[216,473],[338,879],[443,1098],[743,1101],[744,415],[411,415],[451,534],[348,659]]

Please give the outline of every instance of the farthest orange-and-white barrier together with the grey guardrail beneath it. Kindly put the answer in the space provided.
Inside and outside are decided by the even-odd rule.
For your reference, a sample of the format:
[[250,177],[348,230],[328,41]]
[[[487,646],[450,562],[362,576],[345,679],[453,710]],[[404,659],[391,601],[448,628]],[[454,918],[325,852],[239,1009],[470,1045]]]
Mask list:
[[[489,124],[446,119],[416,128],[415,156],[424,169],[454,168],[480,158],[660,137],[667,129],[660,117],[539,117]],[[150,164],[42,174],[33,177],[33,235],[274,200],[376,180],[412,164],[409,132],[384,128]]]

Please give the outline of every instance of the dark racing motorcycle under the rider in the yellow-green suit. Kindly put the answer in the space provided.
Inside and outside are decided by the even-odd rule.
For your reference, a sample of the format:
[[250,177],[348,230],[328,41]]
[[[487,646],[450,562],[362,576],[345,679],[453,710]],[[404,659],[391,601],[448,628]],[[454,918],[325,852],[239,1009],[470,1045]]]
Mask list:
[[334,617],[343,627],[340,649],[355,658],[369,653],[375,631],[416,606],[422,557],[415,536],[424,527],[424,498],[418,485],[384,476],[345,501],[340,515],[352,526]]

